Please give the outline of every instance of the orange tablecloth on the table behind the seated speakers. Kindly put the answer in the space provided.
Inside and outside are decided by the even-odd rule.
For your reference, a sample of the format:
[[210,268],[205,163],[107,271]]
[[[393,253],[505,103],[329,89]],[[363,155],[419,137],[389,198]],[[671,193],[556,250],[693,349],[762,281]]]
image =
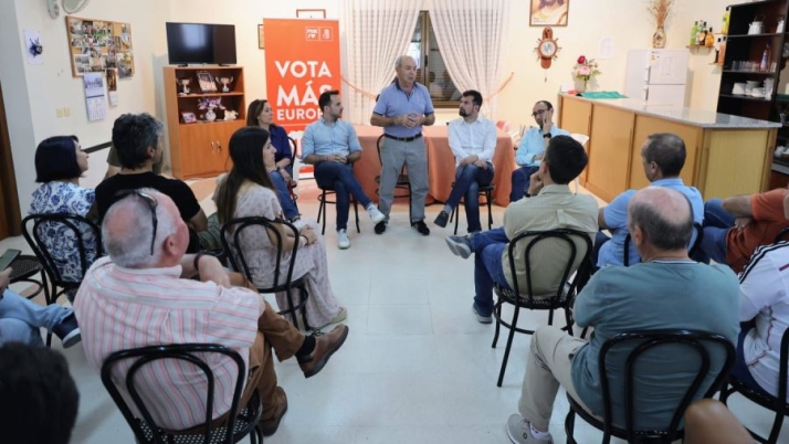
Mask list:
[[[378,201],[376,177],[381,173],[381,161],[378,157],[377,144],[378,138],[383,134],[383,128],[367,125],[355,125],[355,127],[361,144],[361,159],[354,166],[354,175],[359,179],[365,193],[374,201]],[[430,183],[428,203],[432,203],[431,200],[445,202],[455,180],[455,157],[450,149],[448,130],[446,125],[428,126],[422,129],[428,147]],[[496,128],[496,152],[493,155],[492,162],[495,171],[493,183],[496,184],[493,202],[506,207],[509,204],[512,175],[517,165],[513,139],[499,128]]]

